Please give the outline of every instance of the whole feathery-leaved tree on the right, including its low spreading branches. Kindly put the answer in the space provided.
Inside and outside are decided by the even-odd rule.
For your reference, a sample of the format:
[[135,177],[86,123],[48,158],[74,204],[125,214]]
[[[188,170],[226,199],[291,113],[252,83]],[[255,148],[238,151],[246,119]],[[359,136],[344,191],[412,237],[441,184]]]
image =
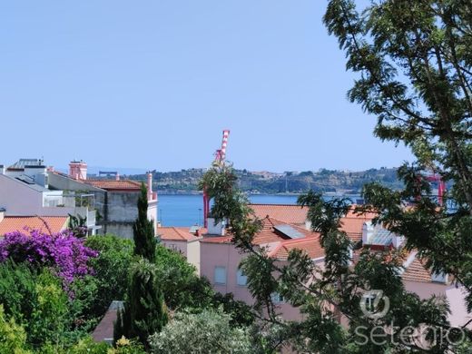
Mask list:
[[[406,143],[418,159],[398,170],[404,182],[402,191],[391,191],[378,183],[365,185],[367,205],[358,211],[378,212],[375,222],[404,235],[406,251],[418,250],[432,271],[453,275],[467,292],[469,310],[471,12],[472,5],[465,0],[380,0],[362,12],[354,1],[331,0],[324,16],[329,33],[338,37],[346,51],[348,69],[360,74],[349,99],[377,116],[375,133],[380,139]],[[431,170],[451,186],[444,205],[431,196],[431,185],[424,176]],[[213,186],[208,192],[219,195],[213,215],[230,221],[233,241],[250,254],[241,266],[256,305],[265,308],[270,323],[283,328],[280,342],[302,352],[421,351],[416,342],[398,340],[396,329],[421,324],[450,329],[444,300],[421,300],[405,290],[398,275],[401,252],[362,251],[359,261],[349,266],[352,245],[348,235],[339,231],[349,201],[326,202],[314,192],[300,197],[300,205],[310,208],[313,230],[320,232],[325,268],[314,267],[300,251],[290,251],[288,264],[279,266],[264,250],[251,248],[257,222],[251,222],[251,211],[235,191],[231,171],[213,169],[204,178],[206,185]],[[363,316],[359,309],[362,291],[372,289],[388,293],[390,310],[382,319]],[[300,308],[304,320],[281,321],[271,304],[273,291]],[[339,326],[339,315],[349,320],[349,329]],[[377,329],[377,334],[388,334],[391,340],[381,345],[368,340],[361,345],[356,333],[359,328],[366,332]],[[468,330],[462,330],[470,338]],[[430,330],[428,335],[432,335]],[[457,337],[453,335],[449,341],[430,342],[430,349],[445,352],[470,346],[465,339],[457,347],[454,339]]]

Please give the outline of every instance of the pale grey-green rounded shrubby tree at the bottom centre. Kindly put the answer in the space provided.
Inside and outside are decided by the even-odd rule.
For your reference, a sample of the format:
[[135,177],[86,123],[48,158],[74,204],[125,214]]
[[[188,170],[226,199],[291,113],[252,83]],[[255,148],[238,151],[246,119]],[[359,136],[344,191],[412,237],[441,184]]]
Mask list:
[[221,310],[178,312],[160,333],[150,338],[152,353],[252,353],[248,330],[232,328],[230,320]]

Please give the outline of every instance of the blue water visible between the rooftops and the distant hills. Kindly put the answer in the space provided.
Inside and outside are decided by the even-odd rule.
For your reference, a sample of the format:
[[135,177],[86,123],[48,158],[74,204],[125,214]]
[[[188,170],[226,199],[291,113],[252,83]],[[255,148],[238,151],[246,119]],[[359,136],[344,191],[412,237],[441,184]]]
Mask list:
[[[250,196],[252,203],[258,204],[296,204],[297,195]],[[160,195],[159,221],[162,226],[191,226],[203,223],[202,195]]]

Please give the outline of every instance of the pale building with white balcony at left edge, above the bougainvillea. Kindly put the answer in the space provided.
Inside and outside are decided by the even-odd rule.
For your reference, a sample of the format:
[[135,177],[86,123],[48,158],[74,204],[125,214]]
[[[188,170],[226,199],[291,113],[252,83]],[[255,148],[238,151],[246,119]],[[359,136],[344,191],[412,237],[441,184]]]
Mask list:
[[8,217],[81,216],[90,234],[98,229],[93,198],[84,192],[55,189],[42,160],[21,159],[7,168],[0,165],[0,208]]

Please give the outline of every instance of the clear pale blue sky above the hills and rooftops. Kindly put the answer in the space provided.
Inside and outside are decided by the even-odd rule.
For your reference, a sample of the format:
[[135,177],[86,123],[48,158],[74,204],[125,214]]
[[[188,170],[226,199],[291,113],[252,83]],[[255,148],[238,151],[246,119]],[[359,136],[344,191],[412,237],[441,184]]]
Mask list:
[[410,159],[349,103],[323,0],[5,1],[0,163],[361,170]]

